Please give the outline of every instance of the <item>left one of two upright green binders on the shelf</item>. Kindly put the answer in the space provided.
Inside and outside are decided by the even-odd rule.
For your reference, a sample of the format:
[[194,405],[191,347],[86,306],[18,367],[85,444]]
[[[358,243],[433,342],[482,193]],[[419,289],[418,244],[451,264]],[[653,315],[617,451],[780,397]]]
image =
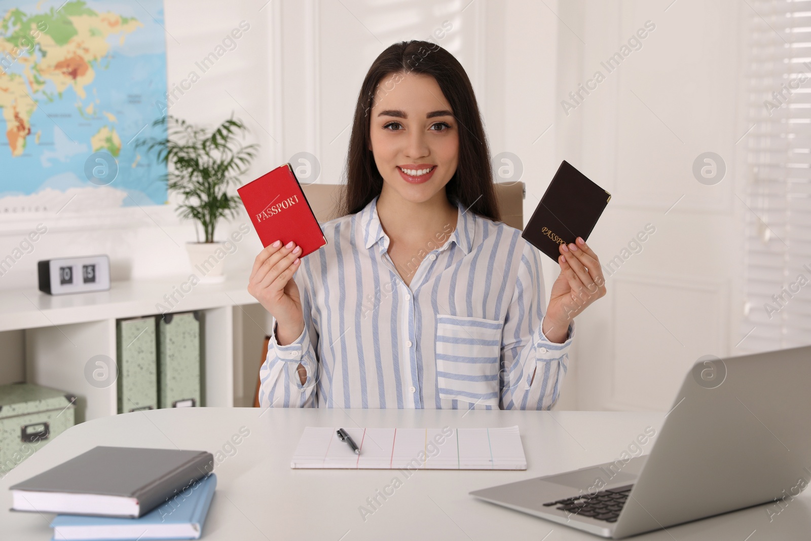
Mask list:
[[155,316],[118,320],[118,413],[157,409]]

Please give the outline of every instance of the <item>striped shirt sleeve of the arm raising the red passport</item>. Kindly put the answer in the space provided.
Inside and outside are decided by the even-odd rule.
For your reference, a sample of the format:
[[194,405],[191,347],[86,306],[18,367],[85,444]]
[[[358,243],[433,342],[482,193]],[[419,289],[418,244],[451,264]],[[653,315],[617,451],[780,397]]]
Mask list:
[[[260,368],[259,403],[266,407],[318,407],[318,333],[312,324],[310,294],[300,271],[294,274],[302,298],[304,330],[290,344],[280,346],[276,338],[276,318],[272,318],[272,333],[268,356]],[[298,376],[298,365],[307,371],[304,383]]]

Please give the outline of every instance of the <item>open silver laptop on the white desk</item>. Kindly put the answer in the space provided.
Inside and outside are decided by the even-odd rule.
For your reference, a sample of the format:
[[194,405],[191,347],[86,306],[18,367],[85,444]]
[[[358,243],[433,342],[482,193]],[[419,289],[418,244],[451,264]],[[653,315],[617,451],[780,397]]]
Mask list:
[[700,359],[650,454],[470,494],[613,539],[774,505],[811,482],[809,411],[811,346]]

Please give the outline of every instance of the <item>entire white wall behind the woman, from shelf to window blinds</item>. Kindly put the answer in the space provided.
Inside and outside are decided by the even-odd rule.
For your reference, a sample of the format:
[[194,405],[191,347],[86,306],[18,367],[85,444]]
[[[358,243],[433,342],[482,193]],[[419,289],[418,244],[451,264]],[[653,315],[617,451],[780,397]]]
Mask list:
[[[453,30],[438,42],[473,81],[493,154],[521,160],[527,217],[566,159],[613,194],[589,240],[603,262],[654,224],[643,251],[608,277],[607,296],[578,316],[560,409],[665,410],[699,356],[736,354],[741,337],[731,329],[739,328],[743,275],[736,140],[746,130],[738,121],[739,18],[748,8],[732,0],[263,4],[165,2],[170,87],[240,21],[251,25],[170,109],[194,122],[220,122],[231,111],[247,122],[251,142],[261,145],[250,178],[311,152],[321,165],[318,182],[341,182],[371,61],[448,20]],[[642,49],[564,114],[560,101],[648,19],[656,29]],[[691,173],[707,150],[727,161],[727,177],[714,187]],[[0,256],[38,221],[49,233],[0,277],[0,289],[36,287],[36,260],[60,255],[107,253],[119,280],[188,273],[183,244],[194,229],[171,206],[0,218]],[[226,272],[247,282],[259,250],[247,238]],[[543,260],[548,297],[559,267]]]

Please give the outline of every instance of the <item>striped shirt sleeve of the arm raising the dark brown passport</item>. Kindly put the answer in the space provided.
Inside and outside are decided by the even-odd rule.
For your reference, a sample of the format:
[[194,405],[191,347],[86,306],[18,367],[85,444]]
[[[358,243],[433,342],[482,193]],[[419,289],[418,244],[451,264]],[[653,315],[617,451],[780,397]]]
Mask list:
[[548,410],[558,399],[569,366],[574,320],[562,344],[549,341],[543,334],[545,298],[539,252],[526,243],[501,335],[499,384],[504,410]]

